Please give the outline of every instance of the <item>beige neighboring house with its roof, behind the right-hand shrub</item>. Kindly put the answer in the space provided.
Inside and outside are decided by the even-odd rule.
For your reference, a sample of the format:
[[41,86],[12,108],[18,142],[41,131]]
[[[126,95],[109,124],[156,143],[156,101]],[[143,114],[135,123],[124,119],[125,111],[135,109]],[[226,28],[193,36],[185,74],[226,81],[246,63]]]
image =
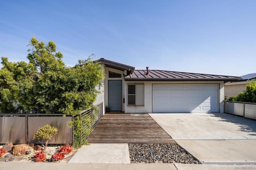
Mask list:
[[248,84],[248,80],[256,79],[256,73],[246,74],[241,76],[242,80],[238,80],[238,82],[226,82],[224,89],[224,96],[226,98],[230,98],[232,96],[237,96],[239,93],[243,92],[246,89],[246,84]]

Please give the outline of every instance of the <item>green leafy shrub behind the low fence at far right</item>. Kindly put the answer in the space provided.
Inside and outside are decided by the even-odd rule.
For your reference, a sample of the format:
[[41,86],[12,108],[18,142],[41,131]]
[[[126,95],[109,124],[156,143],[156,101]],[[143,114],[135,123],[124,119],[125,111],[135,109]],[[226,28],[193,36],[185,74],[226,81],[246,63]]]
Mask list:
[[236,102],[249,102],[256,103],[256,82],[255,80],[248,81],[246,89],[239,93],[237,96],[232,96],[228,99],[229,101]]

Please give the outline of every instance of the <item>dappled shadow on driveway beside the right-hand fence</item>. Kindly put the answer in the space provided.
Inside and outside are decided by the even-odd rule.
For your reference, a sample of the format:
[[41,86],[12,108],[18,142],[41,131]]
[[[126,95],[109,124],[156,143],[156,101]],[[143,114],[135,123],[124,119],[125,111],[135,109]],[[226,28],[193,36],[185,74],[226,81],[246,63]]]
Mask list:
[[218,117],[218,121],[229,122],[234,125],[238,125],[239,129],[236,131],[242,131],[247,133],[247,135],[255,136],[256,137],[256,120],[248,119],[244,117],[240,117],[237,115],[232,115],[228,113],[208,113],[204,116],[210,117]]

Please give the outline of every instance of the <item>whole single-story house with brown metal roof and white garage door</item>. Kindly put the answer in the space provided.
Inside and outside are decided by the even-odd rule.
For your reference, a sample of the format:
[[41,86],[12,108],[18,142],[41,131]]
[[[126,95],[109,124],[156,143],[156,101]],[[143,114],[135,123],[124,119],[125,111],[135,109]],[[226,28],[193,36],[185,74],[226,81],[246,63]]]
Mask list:
[[125,113],[223,112],[224,83],[235,76],[163,70],[135,70],[106,59],[97,61],[106,78],[96,103]]

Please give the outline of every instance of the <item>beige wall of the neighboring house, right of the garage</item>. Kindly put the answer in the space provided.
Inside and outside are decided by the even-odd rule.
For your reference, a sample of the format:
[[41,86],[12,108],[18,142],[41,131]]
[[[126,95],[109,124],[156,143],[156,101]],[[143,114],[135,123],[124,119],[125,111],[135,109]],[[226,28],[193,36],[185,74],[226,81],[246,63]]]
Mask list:
[[243,92],[246,89],[247,82],[234,82],[234,83],[226,83],[224,96],[227,96],[227,99],[232,96],[237,96],[240,92]]

